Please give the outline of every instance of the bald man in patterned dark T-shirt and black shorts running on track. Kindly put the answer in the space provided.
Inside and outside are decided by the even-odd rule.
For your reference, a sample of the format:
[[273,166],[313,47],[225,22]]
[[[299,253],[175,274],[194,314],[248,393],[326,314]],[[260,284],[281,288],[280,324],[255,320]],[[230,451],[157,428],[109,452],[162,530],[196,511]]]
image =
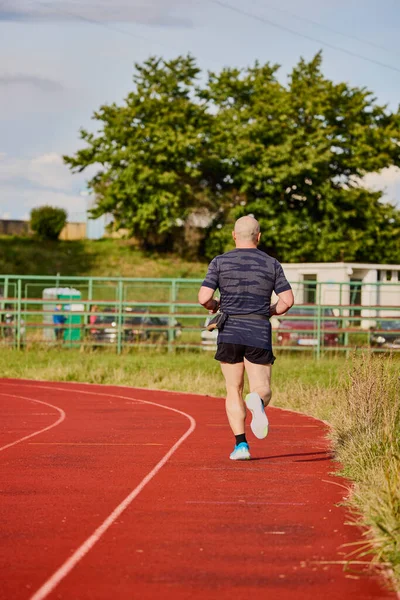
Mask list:
[[[228,315],[218,331],[215,359],[221,363],[226,384],[226,413],[235,436],[232,460],[250,458],[245,434],[246,407],[252,413],[251,429],[263,439],[268,434],[264,407],[271,400],[272,354],[269,317],[283,315],[294,298],[280,263],[258,250],[260,225],[246,216],[232,232],[236,248],[214,258],[199,291],[199,302],[212,313]],[[213,298],[219,289],[220,300]],[[271,305],[272,292],[278,301]],[[243,401],[244,372],[250,393]]]

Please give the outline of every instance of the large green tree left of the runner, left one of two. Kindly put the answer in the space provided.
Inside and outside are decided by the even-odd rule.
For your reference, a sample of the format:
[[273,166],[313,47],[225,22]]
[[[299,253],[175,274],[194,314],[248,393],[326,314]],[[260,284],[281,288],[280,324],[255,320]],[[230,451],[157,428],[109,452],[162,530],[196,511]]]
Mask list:
[[89,182],[93,217],[111,213],[115,227],[129,229],[143,246],[171,247],[171,234],[206,202],[201,180],[211,162],[213,117],[192,98],[198,74],[191,57],[137,64],[135,91],[123,106],[102,106],[94,115],[99,134],[82,130],[87,147],[65,157],[73,170],[99,167]]

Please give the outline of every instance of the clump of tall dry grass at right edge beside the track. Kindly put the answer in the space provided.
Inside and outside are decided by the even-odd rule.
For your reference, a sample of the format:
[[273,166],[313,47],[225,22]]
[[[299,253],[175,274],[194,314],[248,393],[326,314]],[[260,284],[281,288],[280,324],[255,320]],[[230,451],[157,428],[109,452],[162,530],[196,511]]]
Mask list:
[[[349,504],[365,525],[363,554],[389,563],[400,588],[400,377],[392,358],[354,356],[332,437]],[[356,549],[357,551],[357,549]]]

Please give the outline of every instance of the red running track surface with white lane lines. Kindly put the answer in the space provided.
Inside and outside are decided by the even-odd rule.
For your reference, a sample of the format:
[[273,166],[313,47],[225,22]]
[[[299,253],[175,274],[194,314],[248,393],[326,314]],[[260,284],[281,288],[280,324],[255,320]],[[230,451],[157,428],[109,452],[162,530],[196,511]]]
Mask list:
[[240,463],[221,399],[0,380],[1,600],[396,598],[343,566],[326,426],[268,411]]

